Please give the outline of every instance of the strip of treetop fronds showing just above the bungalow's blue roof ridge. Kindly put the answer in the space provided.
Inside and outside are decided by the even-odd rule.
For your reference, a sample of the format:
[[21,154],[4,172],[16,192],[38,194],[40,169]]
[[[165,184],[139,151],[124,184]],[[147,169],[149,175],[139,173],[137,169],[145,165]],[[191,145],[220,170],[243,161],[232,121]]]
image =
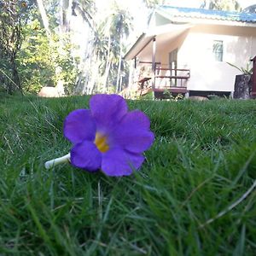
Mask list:
[[236,0],[204,0],[201,4],[201,8],[241,11],[241,6]]

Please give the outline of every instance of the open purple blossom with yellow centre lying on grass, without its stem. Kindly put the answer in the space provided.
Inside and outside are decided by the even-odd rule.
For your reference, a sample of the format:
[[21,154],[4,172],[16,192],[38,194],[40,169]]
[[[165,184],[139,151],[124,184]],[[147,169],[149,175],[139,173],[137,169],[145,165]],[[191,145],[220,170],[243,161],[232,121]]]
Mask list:
[[108,176],[130,175],[142,166],[143,151],[150,148],[154,133],[143,112],[128,112],[118,95],[90,98],[90,109],[77,109],[64,121],[64,136],[73,143],[73,166]]

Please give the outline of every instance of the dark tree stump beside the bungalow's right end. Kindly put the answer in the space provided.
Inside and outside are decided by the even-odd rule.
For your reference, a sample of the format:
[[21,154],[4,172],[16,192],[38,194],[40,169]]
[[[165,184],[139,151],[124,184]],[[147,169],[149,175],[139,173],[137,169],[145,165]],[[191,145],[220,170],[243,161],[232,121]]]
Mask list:
[[252,90],[251,75],[237,75],[235,81],[235,99],[249,99]]

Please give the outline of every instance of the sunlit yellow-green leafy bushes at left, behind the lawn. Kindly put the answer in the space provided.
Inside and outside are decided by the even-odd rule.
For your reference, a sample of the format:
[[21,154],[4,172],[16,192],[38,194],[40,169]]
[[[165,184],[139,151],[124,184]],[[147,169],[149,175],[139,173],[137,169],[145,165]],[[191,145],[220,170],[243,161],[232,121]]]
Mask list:
[[[49,42],[39,20],[31,21],[23,30],[25,40],[18,61],[24,90],[38,93],[43,86],[55,86],[61,79],[70,93],[77,76],[76,60],[71,55],[73,45],[63,43],[60,49],[57,35]],[[56,70],[57,67],[61,69]]]

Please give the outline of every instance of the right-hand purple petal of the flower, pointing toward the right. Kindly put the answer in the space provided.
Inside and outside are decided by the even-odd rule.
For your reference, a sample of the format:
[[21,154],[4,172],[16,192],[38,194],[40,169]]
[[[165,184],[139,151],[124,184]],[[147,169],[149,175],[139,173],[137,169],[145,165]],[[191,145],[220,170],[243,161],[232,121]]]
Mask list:
[[148,116],[143,112],[136,110],[126,113],[113,132],[110,145],[141,154],[154,142],[154,133],[149,131],[149,126]]

